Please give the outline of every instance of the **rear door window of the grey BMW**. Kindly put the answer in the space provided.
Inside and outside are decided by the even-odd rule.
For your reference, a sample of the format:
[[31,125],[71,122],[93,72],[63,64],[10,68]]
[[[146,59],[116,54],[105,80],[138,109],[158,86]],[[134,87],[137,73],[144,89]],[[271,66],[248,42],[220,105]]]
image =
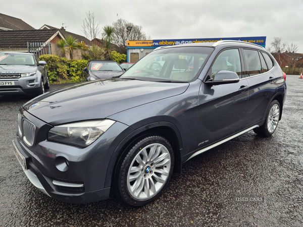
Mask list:
[[262,73],[261,61],[257,50],[243,49],[246,61],[248,76],[255,76]]

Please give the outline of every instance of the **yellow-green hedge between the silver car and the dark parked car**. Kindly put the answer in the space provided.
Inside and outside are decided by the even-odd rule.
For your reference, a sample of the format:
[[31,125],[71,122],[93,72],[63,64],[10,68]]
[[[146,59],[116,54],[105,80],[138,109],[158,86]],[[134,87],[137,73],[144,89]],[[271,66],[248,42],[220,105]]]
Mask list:
[[39,57],[40,61],[45,61],[45,68],[48,71],[49,82],[80,82],[82,70],[87,64],[86,60],[67,60],[57,55],[43,54]]

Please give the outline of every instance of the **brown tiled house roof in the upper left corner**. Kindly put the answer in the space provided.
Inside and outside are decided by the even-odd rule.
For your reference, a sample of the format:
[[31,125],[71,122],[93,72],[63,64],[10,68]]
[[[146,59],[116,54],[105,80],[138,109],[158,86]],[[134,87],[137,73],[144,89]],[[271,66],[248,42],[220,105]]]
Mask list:
[[0,14],[0,31],[1,30],[34,30],[34,28],[19,18]]

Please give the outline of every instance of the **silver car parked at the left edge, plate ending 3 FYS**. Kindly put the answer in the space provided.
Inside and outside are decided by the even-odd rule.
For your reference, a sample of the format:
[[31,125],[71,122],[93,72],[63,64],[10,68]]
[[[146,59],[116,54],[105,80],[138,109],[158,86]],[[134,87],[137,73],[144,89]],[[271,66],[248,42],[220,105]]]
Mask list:
[[36,54],[0,52],[0,95],[40,95],[49,89],[46,62]]

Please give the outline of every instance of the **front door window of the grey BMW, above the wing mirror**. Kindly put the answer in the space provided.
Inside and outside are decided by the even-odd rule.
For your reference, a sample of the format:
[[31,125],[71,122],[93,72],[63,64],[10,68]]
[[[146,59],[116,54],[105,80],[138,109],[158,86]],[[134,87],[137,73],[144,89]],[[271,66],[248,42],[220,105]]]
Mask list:
[[212,76],[222,70],[235,72],[241,78],[241,61],[238,49],[228,49],[221,52],[212,66]]

